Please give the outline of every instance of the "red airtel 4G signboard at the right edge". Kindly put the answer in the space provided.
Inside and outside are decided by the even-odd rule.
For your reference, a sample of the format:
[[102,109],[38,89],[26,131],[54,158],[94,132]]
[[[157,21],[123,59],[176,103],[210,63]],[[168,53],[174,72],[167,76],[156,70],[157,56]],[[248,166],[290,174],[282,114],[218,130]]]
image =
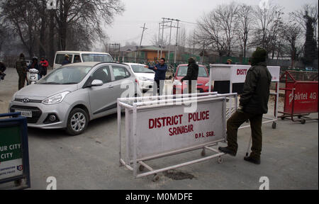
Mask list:
[[286,91],[284,112],[292,114],[293,106],[293,114],[318,113],[318,82],[286,82],[286,89],[293,88]]

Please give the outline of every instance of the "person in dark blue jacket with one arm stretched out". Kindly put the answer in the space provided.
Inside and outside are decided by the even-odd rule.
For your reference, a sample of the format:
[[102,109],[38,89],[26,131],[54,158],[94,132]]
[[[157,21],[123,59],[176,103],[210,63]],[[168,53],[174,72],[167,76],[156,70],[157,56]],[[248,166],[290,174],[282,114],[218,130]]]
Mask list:
[[[149,66],[145,66],[145,67],[148,69],[152,69],[155,72],[154,81],[157,85],[157,94],[159,96],[162,95],[162,88],[163,87],[160,87],[160,84],[161,84],[160,81],[165,81],[165,79],[166,79],[167,64],[165,64],[165,59],[162,58],[161,60],[159,60],[159,64],[155,64],[155,66],[153,66],[153,67],[149,67]],[[155,90],[153,92],[155,95]]]

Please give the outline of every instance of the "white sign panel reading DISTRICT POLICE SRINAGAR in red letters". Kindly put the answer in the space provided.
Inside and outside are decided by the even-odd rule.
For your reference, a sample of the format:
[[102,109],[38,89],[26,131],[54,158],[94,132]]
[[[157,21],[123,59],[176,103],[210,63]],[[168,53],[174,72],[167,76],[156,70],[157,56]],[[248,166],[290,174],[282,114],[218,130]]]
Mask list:
[[[138,159],[225,139],[224,100],[198,102],[195,113],[186,106],[167,106],[137,113],[136,154]],[[133,112],[129,115],[133,121]],[[130,131],[133,130],[131,123]],[[133,135],[130,132],[130,135]],[[133,159],[133,138],[129,137],[129,159]]]

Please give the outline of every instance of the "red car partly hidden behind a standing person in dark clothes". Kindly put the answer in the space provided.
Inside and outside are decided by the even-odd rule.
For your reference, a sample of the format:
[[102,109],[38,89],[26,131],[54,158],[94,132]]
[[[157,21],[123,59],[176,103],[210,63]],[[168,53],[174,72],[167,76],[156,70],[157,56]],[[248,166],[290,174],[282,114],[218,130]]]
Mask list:
[[[181,84],[181,79],[183,79],[187,74],[187,67],[188,64],[180,64],[177,67],[177,72],[174,77],[173,82],[173,94],[188,94],[188,86],[185,83],[186,81]],[[198,79],[197,79],[197,92],[198,93],[205,93],[209,91],[209,74],[203,65],[198,65]],[[213,86],[212,89],[213,90]]]

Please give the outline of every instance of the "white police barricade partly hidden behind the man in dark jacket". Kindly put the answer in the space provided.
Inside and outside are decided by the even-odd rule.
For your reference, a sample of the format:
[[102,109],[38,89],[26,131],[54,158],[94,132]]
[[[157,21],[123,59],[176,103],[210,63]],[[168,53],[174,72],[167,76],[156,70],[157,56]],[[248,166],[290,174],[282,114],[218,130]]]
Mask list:
[[[241,94],[247,72],[251,67],[250,65],[211,64],[210,67],[210,92],[212,91],[212,81],[227,81],[226,84],[229,85],[229,89],[227,89],[226,93],[229,91],[231,94],[235,90],[234,92]],[[275,96],[274,114],[273,117],[267,117],[264,115],[264,121],[262,123],[272,123],[272,128],[276,129],[278,121],[280,67],[268,66],[267,68],[270,74],[272,74],[272,82],[276,83],[276,91],[274,93],[270,93],[271,96]],[[225,89],[225,87],[223,87],[223,89]],[[214,89],[214,91],[218,90]],[[237,107],[229,110],[229,113],[227,114],[228,118],[236,111],[236,109]],[[242,128],[250,128],[250,125],[240,127],[240,129]]]

